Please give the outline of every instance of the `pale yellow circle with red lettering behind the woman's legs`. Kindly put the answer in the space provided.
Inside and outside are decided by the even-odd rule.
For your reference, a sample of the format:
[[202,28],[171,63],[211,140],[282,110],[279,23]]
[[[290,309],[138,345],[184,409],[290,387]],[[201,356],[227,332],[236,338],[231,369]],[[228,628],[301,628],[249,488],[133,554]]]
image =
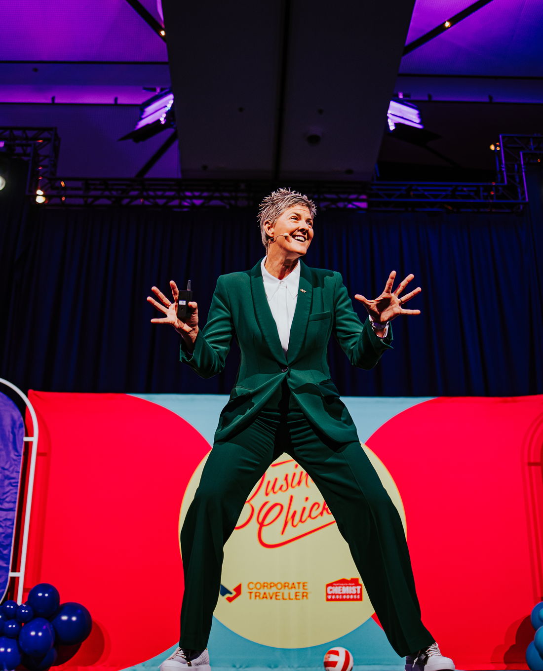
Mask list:
[[[397,508],[407,535],[403,503],[391,474],[376,454],[365,445],[362,448]],[[207,456],[187,486],[180,530]],[[360,576],[317,486],[296,462],[287,454],[281,455],[248,501],[238,521],[242,528],[236,527],[224,546],[221,584],[232,595],[219,597],[214,615],[221,623],[264,646],[306,648],[333,641],[373,615],[363,586],[362,601],[326,601],[328,583],[342,578],[360,580]],[[240,585],[240,596],[233,599]]]

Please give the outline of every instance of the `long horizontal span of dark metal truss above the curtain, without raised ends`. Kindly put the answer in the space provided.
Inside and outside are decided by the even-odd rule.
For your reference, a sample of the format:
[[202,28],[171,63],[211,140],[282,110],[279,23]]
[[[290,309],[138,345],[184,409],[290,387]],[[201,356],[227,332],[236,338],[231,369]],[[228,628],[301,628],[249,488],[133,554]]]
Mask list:
[[[203,207],[257,207],[277,189],[267,181],[47,178],[49,205],[83,207],[146,206],[179,210]],[[526,201],[505,185],[412,182],[299,182],[319,209],[520,211]]]

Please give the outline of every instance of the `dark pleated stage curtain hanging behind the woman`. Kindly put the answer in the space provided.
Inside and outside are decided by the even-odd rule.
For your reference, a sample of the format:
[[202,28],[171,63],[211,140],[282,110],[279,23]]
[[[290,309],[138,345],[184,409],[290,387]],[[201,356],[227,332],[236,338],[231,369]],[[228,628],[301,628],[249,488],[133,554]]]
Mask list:
[[[540,174],[528,177],[537,191]],[[21,212],[0,215],[1,376],[44,391],[229,393],[237,346],[223,374],[202,380],[179,363],[177,333],[150,324],[146,296],[190,278],[205,323],[217,276],[262,256],[254,211]],[[423,289],[409,303],[422,315],[395,320],[375,370],[352,368],[332,342],[340,393],[543,393],[539,201],[520,215],[323,211],[306,262],[340,271],[351,296],[378,295],[393,269]]]

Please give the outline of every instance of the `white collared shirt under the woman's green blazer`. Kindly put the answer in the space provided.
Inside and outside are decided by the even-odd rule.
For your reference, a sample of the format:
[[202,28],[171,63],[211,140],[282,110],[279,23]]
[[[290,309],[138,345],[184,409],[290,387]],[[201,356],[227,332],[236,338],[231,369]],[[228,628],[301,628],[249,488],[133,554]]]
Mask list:
[[300,284],[300,262],[296,268],[283,280],[274,277],[266,270],[266,258],[262,259],[260,267],[262,268],[262,280],[264,281],[264,291],[268,299],[268,305],[277,325],[277,333],[281,347],[285,354],[289,350],[289,340],[291,338],[291,326],[294,319],[294,312],[298,300],[298,289]]

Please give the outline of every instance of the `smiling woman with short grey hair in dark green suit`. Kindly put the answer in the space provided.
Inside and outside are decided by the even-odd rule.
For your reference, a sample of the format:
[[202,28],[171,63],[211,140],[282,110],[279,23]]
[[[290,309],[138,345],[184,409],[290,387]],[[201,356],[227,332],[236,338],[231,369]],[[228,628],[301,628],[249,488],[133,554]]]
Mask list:
[[156,287],[148,297],[181,335],[181,360],[208,378],[224,368],[232,338],[241,362],[230,401],[221,412],[213,450],[181,531],[185,594],[179,648],[162,671],[197,666],[209,671],[207,639],[219,596],[222,548],[234,530],[254,484],[287,452],[321,491],[366,586],[391,645],[407,656],[406,669],[454,671],[420,619],[409,550],[397,510],[360,446],[356,427],[326,361],[334,333],[350,362],[373,368],[391,348],[390,322],[417,315],[401,297],[413,279],[395,291],[391,272],[385,291],[369,301],[362,324],[338,272],[307,268],[301,261],[313,238],[315,205],[306,196],[279,189],[260,206],[266,256],[252,270],[219,276],[203,331],[197,303],[185,320]]

